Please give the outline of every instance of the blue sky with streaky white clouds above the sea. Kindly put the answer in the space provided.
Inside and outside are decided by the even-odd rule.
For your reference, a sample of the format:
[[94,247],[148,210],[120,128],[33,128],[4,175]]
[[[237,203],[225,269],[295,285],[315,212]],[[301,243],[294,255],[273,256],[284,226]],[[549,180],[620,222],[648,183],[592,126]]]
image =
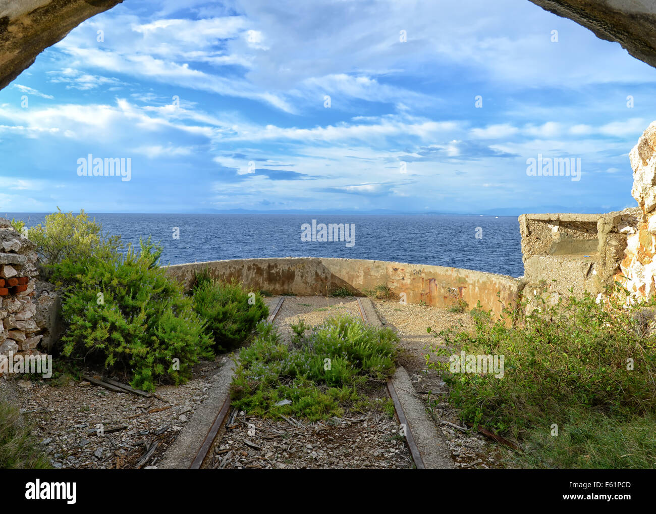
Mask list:
[[0,211],[619,210],[655,79],[524,0],[125,0],[0,91]]

